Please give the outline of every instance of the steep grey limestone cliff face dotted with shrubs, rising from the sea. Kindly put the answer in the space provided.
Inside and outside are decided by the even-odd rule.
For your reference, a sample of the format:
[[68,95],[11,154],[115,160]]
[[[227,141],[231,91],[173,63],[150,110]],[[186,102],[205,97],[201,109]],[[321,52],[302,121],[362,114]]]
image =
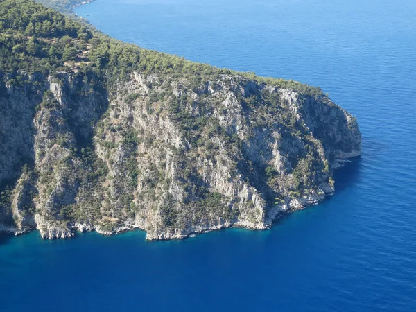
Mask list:
[[238,74],[25,77],[1,76],[0,230],[265,229],[333,193],[337,160],[361,153],[356,119],[329,98]]

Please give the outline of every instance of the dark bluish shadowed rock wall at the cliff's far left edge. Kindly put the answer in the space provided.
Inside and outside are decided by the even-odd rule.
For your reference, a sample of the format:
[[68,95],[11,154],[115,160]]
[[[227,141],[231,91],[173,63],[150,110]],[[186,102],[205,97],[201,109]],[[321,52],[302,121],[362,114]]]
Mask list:
[[31,79],[26,77],[21,85],[8,89],[5,75],[0,73],[0,223],[5,225],[15,224],[12,190],[24,168],[31,170],[35,164],[33,119],[42,97],[33,84],[40,77],[33,75]]

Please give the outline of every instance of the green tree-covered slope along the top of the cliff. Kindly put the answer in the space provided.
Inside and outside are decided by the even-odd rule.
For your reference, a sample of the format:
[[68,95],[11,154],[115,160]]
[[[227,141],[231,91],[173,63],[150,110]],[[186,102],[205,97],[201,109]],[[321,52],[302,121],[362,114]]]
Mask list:
[[[61,8],[58,3],[50,2],[53,8]],[[60,1],[62,7],[67,7],[69,2]],[[92,26],[31,0],[0,1],[0,71],[14,73],[13,79],[18,82],[17,71],[49,73],[87,69],[105,71],[109,80],[126,78],[133,70],[173,78],[188,76],[199,81],[207,76],[235,73],[114,40]],[[260,78],[254,73],[239,75],[275,87],[322,95],[320,88],[292,80]]]

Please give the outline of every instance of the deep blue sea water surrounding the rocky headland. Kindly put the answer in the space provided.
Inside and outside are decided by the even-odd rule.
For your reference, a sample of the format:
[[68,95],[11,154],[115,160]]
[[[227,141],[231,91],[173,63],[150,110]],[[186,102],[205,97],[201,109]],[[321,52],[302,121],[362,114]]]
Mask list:
[[336,195],[268,231],[0,236],[0,311],[416,311],[416,1],[98,0],[101,31],[319,85],[358,118]]

